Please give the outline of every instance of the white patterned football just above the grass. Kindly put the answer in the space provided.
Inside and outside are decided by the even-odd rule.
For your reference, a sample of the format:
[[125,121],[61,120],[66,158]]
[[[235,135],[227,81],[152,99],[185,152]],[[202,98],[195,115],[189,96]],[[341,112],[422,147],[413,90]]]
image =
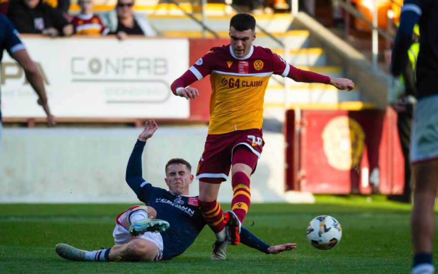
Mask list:
[[308,224],[307,239],[318,249],[334,247],[341,237],[341,224],[331,216],[318,216]]

